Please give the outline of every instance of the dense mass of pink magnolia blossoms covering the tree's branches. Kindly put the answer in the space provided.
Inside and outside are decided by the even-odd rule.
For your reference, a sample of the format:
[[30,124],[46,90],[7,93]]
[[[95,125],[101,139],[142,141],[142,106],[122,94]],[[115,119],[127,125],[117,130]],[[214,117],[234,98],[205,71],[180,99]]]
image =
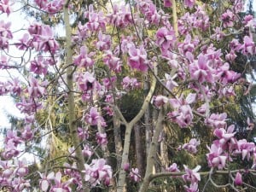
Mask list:
[[[138,168],[130,169],[128,163],[130,146],[127,147],[128,149],[120,147],[122,148],[120,151],[124,150],[124,154],[117,154],[117,161],[119,157],[124,158],[122,162],[117,163],[121,163],[122,168],[113,169],[107,165],[107,160],[101,158],[105,152],[108,154],[106,151],[109,144],[108,132],[112,131],[104,128],[109,126],[112,129],[113,126],[114,129],[121,130],[120,125],[125,125],[128,130],[127,127],[130,128],[131,123],[134,122],[134,120],[127,122],[120,114],[126,113],[119,110],[122,96],[125,94],[130,96],[133,91],[142,89],[144,85],[145,94],[152,93],[152,96],[146,97],[144,103],[149,103],[151,99],[151,104],[157,113],[165,108],[166,124],[192,129],[195,122],[201,121],[208,128],[211,127],[208,130],[212,131],[214,140],[211,141],[212,143],[209,141],[209,146],[201,144],[197,132],[192,131],[193,138],[186,139],[187,143],[181,144],[178,149],[183,148],[184,153],[196,155],[199,147],[207,148],[206,160],[212,170],[228,169],[228,165],[238,158],[253,162],[251,167],[255,169],[255,143],[236,137],[236,125],[228,125],[227,113],[212,113],[212,100],[236,96],[236,86],[240,84],[238,79],[241,78],[241,74],[231,70],[231,67],[237,56],[245,55],[250,58],[256,55],[252,32],[245,32],[242,38],[237,38],[238,36],[233,36],[232,33],[227,34],[231,32],[231,27],[240,25],[237,17],[241,10],[241,0],[232,2],[235,5],[230,5],[219,20],[216,20],[220,22],[219,26],[211,26],[206,5],[200,3],[195,5],[195,0],[184,0],[184,9],[189,12],[184,13],[177,20],[176,27],[169,20],[171,16],[166,15],[151,0],[134,1],[133,7],[131,2],[129,2],[130,6],[111,3],[112,9],[106,11],[97,11],[96,6],[92,4],[85,8],[76,1],[67,1],[69,4],[64,6],[63,0],[34,0],[30,9],[43,11],[49,16],[49,20],[63,9],[69,14],[73,13],[74,9],[80,9],[82,14],[70,15],[72,19],[77,17],[79,22],[78,26],[75,26],[77,20],[73,24],[75,27],[70,35],[72,37],[66,37],[71,38],[72,43],[70,47],[66,47],[71,49],[71,53],[68,54],[67,50],[61,49],[66,44],[55,39],[54,27],[32,21],[24,30],[26,32],[14,38],[15,32],[11,30],[11,22],[0,20],[0,70],[16,69],[23,75],[20,79],[1,81],[0,96],[15,96],[16,107],[24,114],[22,129],[8,130],[3,142],[0,189],[4,187],[10,191],[20,192],[30,188],[31,181],[26,178],[29,174],[28,164],[26,160],[18,158],[23,152],[20,146],[28,143],[32,145],[36,131],[41,134],[44,126],[44,129],[49,129],[47,134],[52,134],[54,137],[57,132],[61,135],[62,132],[58,129],[68,123],[71,126],[75,125],[75,130],[70,131],[73,135],[77,134],[74,138],[80,143],[76,146],[68,146],[68,163],[64,162],[60,171],[46,170],[42,173],[39,170],[38,185],[42,191],[82,191],[84,182],[90,188],[97,185],[111,186],[113,175],[124,177],[124,181],[129,175],[133,182],[147,183],[148,175],[143,179]],[[173,4],[170,0],[164,0],[162,3],[166,9],[172,9]],[[9,0],[0,0],[0,14],[10,15],[11,5]],[[252,27],[255,28],[253,16],[244,17],[242,25],[251,30]],[[211,37],[206,37],[207,32],[211,32]],[[231,39],[226,49],[218,49],[216,44],[226,37]],[[206,38],[209,38],[209,41],[205,41]],[[24,52],[20,57],[20,64],[9,55],[9,49],[12,48]],[[26,54],[29,55],[28,59]],[[63,60],[67,55],[71,55],[70,60],[67,60],[69,63]],[[157,73],[156,69],[163,71]],[[156,79],[158,83],[155,84],[160,87],[148,91],[143,78]],[[68,80],[72,81],[72,85],[67,83]],[[148,84],[153,86],[153,81]],[[72,102],[76,102],[73,112],[70,108],[67,109],[71,101],[70,96],[73,96]],[[144,109],[145,107],[141,108],[140,112],[144,113]],[[51,113],[56,114],[51,115]],[[58,115],[61,114],[67,116],[74,114],[77,119],[67,122],[66,117],[59,118]],[[47,116],[44,123],[39,116],[42,118]],[[59,119],[56,118],[57,116]],[[143,114],[139,113],[138,116],[141,119],[136,120],[143,121]],[[104,119],[105,117],[107,118]],[[118,122],[113,122],[112,125],[112,122],[109,123],[112,118],[118,119]],[[38,119],[41,121],[39,122]],[[52,119],[63,121],[61,122],[63,125],[53,127]],[[248,119],[247,124],[245,129],[252,131],[253,122]],[[156,126],[157,123],[152,129],[156,129]],[[154,137],[157,132],[152,130],[150,134]],[[131,131],[125,132],[125,139],[129,134],[131,135]],[[159,143],[164,140],[161,136],[160,138]],[[151,142],[151,138],[149,140]],[[120,139],[119,143],[121,145],[130,143],[130,140]],[[155,145],[154,139],[152,139],[153,145]],[[99,148],[100,153],[98,153]],[[85,163],[81,161],[82,166],[78,166],[81,163],[77,157],[79,149],[82,155],[80,160],[86,160]],[[153,160],[154,154],[150,155]],[[95,159],[96,157],[98,159]],[[148,162],[147,164],[149,165]],[[78,167],[84,168],[79,170]],[[199,165],[194,169],[183,166],[185,173],[181,177],[186,183],[184,185],[186,191],[199,191],[200,169]],[[166,172],[181,174],[177,163],[167,167]],[[235,178],[230,177],[234,181],[232,183],[234,188],[236,185],[242,185],[242,176],[242,172],[236,172]],[[119,189],[121,187],[123,186],[119,186]]]

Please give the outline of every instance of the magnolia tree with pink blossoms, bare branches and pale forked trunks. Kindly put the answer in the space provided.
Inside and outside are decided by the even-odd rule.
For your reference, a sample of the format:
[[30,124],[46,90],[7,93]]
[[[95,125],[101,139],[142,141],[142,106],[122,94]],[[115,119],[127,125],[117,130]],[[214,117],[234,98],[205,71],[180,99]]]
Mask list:
[[[122,6],[114,1],[35,0],[19,2],[20,9],[16,3],[0,1],[2,15],[26,10],[34,20],[24,20],[27,27],[19,37],[11,31],[14,23],[0,21],[0,69],[10,75],[0,82],[0,94],[14,96],[24,114],[22,126],[8,130],[4,139],[2,189],[122,192],[132,181],[137,191],[145,192],[154,186],[152,181],[166,178],[183,182],[178,191],[207,191],[212,185],[255,189],[243,180],[255,173],[255,144],[236,137],[236,125],[213,105],[236,98],[236,91],[247,85],[231,68],[238,55],[251,58],[256,53],[256,23],[253,15],[239,16],[241,0],[138,0]],[[65,26],[64,37],[56,35],[61,31],[55,32],[57,24]],[[12,54],[15,49],[20,57]],[[19,75],[13,78],[15,71]],[[128,105],[137,105],[132,94],[142,102],[127,118],[121,106],[127,96]],[[207,143],[201,143],[195,130],[198,122],[211,136]],[[207,166],[180,165],[167,155],[167,163],[157,169],[166,125],[190,131],[190,141],[179,141],[175,150],[196,157],[201,148]],[[252,119],[244,130],[253,130]],[[58,140],[57,134],[67,140]],[[131,162],[133,136],[141,137],[145,147],[140,167]],[[22,154],[42,137],[62,143],[63,153],[55,158],[49,155],[53,152],[44,154],[50,160],[30,172]],[[232,169],[236,160],[247,166]],[[229,179],[217,183],[215,175]]]

